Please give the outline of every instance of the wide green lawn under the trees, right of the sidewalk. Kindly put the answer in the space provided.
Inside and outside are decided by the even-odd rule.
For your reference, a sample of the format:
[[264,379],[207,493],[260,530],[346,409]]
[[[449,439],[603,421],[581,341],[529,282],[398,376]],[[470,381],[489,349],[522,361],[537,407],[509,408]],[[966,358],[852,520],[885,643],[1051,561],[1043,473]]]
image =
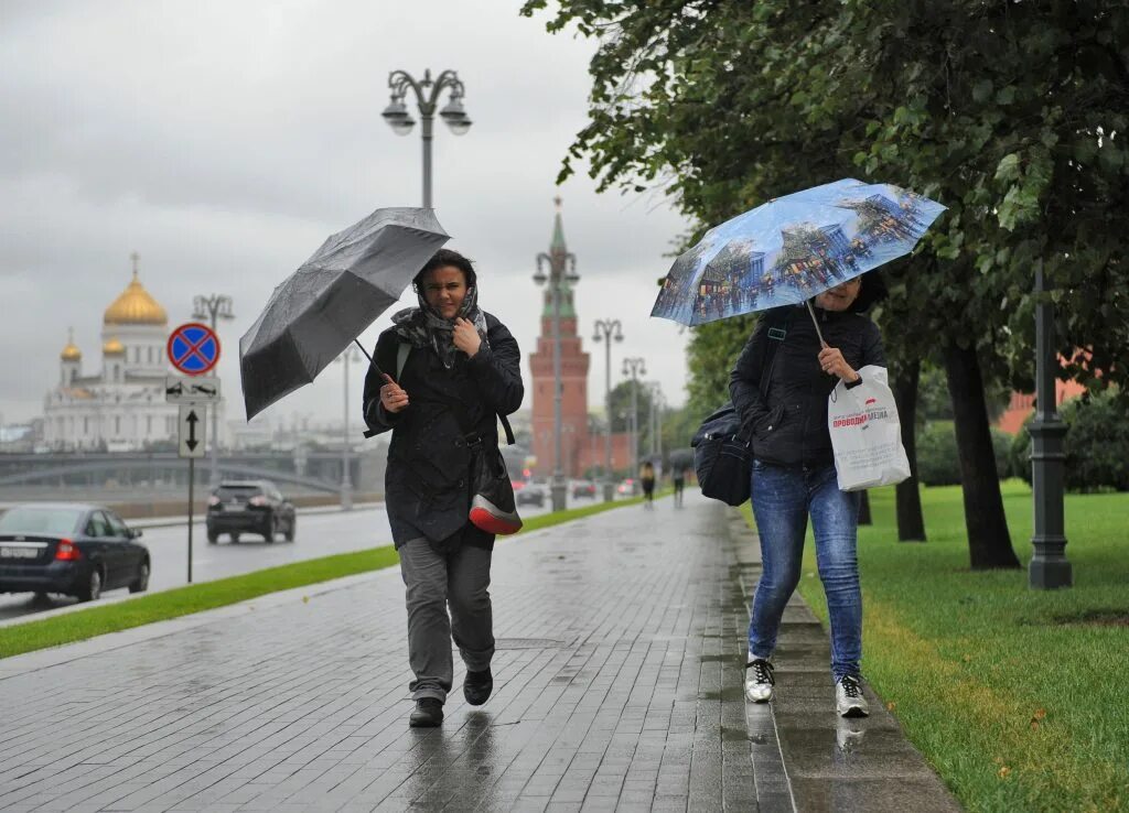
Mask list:
[[[1026,567],[1031,491],[1004,501]],[[960,488],[922,503],[924,545],[898,541],[893,488],[859,529],[870,684],[969,810],[1129,810],[1129,494],[1067,496],[1075,586],[1053,592],[970,571]],[[800,592],[826,624],[812,548]]]

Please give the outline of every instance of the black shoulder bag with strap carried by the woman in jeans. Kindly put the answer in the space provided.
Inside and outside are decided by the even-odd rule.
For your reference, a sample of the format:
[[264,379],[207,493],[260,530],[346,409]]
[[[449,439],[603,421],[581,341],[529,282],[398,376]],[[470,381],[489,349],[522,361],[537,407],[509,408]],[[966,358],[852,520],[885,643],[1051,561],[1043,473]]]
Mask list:
[[[782,313],[765,315],[769,322],[768,342],[761,362],[761,398],[768,394],[776,351],[787,336],[793,309]],[[753,471],[753,440],[750,427],[743,426],[741,415],[726,401],[702,421],[690,441],[694,450],[694,472],[702,494],[720,500],[727,505],[743,505],[750,497]]]

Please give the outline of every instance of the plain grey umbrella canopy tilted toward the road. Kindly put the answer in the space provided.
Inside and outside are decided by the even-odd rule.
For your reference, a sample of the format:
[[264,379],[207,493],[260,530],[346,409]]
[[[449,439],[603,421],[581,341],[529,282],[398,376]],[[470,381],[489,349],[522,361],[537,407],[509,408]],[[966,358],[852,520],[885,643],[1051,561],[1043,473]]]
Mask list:
[[410,207],[378,209],[326,239],[239,339],[247,419],[313,381],[448,239],[432,210]]

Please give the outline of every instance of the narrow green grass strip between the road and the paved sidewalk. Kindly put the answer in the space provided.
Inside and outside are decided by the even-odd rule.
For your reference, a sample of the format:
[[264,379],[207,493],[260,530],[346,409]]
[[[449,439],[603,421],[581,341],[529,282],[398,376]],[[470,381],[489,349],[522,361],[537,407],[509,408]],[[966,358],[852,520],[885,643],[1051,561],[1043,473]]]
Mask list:
[[[665,493],[659,492],[658,495],[662,496]],[[642,497],[633,497],[613,503],[599,502],[584,507],[533,516],[525,521],[519,533],[549,528],[624,505],[634,505],[641,501]],[[255,599],[265,593],[303,587],[391,567],[399,562],[395,549],[388,545],[351,554],[296,562],[215,582],[190,584],[122,602],[110,604],[95,602],[80,611],[41,620],[33,619],[26,624],[10,627],[0,627],[0,657],[44,649],[49,646],[71,644],[97,635],[131,629],[155,621],[165,621],[193,612],[213,610],[217,607]]]

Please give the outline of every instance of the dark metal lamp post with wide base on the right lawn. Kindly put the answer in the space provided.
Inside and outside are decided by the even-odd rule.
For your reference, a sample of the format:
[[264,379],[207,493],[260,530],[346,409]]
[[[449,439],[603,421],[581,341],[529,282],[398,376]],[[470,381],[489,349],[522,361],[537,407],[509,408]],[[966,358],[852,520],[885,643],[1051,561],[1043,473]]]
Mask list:
[[1027,583],[1036,590],[1069,587],[1073,582],[1066,558],[1062,510],[1064,438],[1066,424],[1059,418],[1054,397],[1054,306],[1045,293],[1043,264],[1035,266],[1035,417],[1031,432],[1031,486],[1035,504],[1034,548],[1027,565]]

